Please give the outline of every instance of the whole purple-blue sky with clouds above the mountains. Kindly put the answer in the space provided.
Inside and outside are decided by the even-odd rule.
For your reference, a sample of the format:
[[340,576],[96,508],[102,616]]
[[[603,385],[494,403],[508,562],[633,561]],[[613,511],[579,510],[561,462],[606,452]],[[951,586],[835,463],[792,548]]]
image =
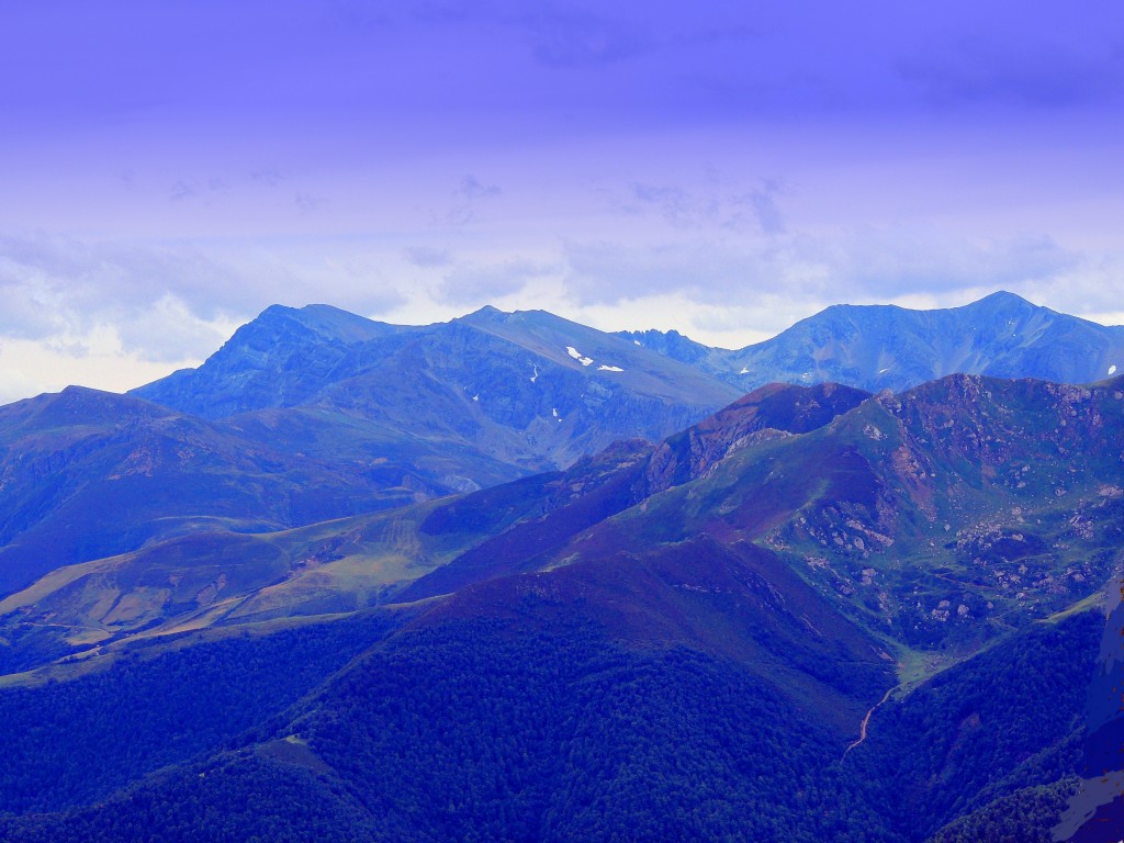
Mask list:
[[[985,8],[980,8],[985,7]],[[1124,321],[1124,4],[0,0],[0,401],[273,302]]]

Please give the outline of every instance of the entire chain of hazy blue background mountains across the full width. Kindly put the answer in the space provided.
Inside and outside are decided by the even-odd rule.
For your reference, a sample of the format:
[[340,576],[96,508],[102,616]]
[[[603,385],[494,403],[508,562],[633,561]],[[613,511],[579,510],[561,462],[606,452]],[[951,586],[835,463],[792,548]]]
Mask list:
[[404,327],[274,306],[200,368],[129,396],[71,388],[0,408],[0,596],[185,532],[277,532],[556,471],[767,382],[1098,381],[1124,359],[1122,330],[1009,293],[828,308],[737,352],[542,311]]

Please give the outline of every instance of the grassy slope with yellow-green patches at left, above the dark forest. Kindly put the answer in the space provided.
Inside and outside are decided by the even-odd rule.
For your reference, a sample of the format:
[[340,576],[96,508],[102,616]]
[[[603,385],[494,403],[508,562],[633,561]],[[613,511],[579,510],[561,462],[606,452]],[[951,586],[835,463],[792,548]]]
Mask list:
[[541,511],[541,474],[471,495],[262,534],[187,533],[57,569],[0,601],[0,664],[24,671],[133,638],[379,605]]

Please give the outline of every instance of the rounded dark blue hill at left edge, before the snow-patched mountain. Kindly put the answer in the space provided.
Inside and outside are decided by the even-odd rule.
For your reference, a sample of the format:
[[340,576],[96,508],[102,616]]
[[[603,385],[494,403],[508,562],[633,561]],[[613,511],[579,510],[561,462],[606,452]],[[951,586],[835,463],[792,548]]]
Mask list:
[[0,595],[55,568],[184,533],[264,532],[401,506],[380,466],[254,442],[70,387],[0,407]]

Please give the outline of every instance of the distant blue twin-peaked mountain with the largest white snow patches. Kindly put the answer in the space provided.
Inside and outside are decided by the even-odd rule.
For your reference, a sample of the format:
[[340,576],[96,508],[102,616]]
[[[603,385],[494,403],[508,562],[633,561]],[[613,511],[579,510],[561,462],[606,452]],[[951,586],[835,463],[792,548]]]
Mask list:
[[[361,419],[454,460],[501,463],[513,479],[566,465],[618,438],[659,438],[740,392],[542,311],[483,308],[417,328],[310,306],[271,307],[199,369],[132,395],[201,418],[238,419],[251,435],[255,414],[293,410],[281,417],[299,414],[309,429],[288,435],[332,436],[332,448],[343,438],[333,433]],[[279,435],[287,432],[268,434]],[[457,478],[423,465],[451,488],[496,479],[480,469]]]

